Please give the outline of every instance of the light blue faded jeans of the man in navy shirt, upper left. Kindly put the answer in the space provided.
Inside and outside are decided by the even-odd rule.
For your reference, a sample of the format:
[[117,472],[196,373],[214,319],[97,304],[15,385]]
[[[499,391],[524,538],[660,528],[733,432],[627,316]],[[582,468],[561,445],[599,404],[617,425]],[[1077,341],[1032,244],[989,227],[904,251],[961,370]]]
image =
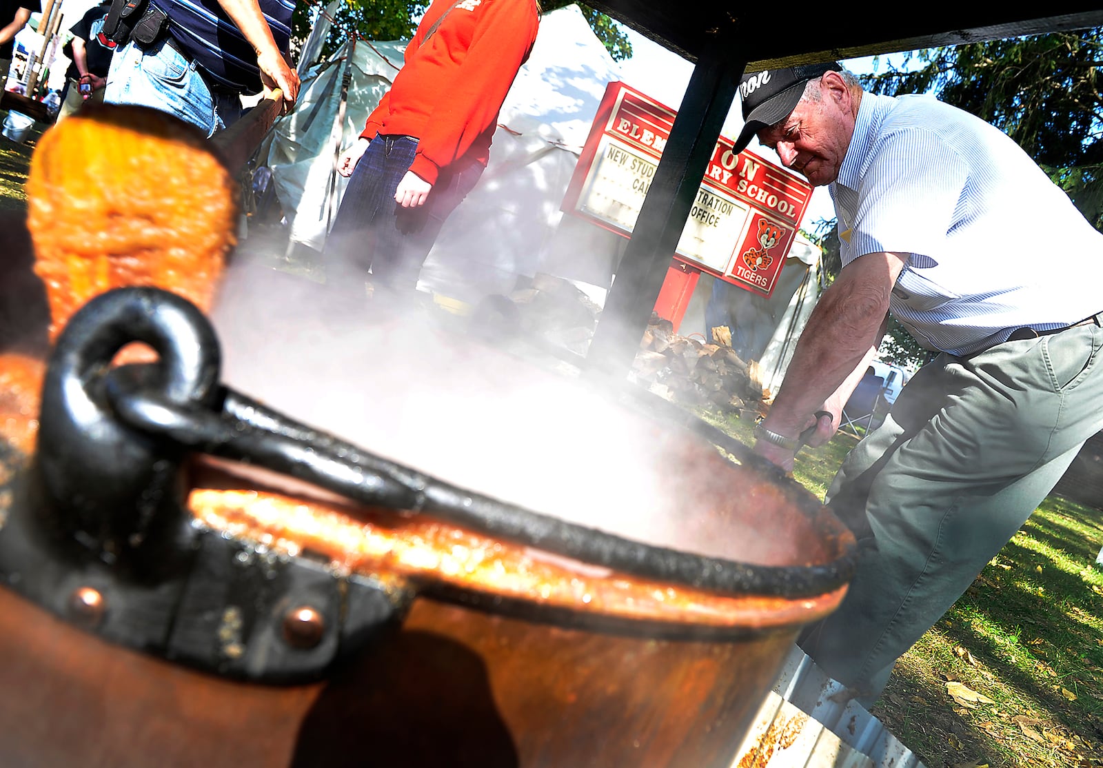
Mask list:
[[195,62],[161,40],[144,51],[132,41],[115,52],[104,102],[175,115],[210,138],[242,116],[238,94],[212,92]]

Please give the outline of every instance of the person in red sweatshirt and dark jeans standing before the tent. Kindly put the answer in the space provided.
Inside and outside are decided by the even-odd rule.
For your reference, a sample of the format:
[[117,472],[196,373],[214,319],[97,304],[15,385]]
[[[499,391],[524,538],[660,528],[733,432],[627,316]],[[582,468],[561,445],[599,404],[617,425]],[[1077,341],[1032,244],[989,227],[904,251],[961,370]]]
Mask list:
[[448,215],[486,168],[497,114],[528,58],[537,0],[433,0],[406,62],[338,160],[351,177],[325,246],[326,284],[413,297]]

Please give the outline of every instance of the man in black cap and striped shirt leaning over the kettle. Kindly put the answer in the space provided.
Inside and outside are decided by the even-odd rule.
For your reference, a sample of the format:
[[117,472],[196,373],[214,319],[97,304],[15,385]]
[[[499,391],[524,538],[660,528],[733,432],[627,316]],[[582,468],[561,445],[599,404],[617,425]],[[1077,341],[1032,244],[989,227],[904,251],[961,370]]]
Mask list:
[[832,437],[888,312],[940,353],[827,492],[858,568],[800,642],[869,705],[1103,429],[1103,234],[1006,135],[932,97],[865,93],[835,63],[740,93],[737,150],[758,136],[828,186],[843,262],[756,451],[792,468],[803,430]]

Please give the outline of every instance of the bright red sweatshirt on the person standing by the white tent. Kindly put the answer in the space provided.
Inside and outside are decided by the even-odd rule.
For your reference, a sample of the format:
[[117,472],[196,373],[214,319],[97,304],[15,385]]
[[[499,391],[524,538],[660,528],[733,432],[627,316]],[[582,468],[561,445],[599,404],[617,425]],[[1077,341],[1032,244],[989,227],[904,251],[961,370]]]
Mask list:
[[433,0],[426,11],[403,68],[361,134],[370,140],[376,134],[416,137],[410,170],[430,184],[457,160],[486,164],[497,113],[539,24],[536,0],[452,2]]

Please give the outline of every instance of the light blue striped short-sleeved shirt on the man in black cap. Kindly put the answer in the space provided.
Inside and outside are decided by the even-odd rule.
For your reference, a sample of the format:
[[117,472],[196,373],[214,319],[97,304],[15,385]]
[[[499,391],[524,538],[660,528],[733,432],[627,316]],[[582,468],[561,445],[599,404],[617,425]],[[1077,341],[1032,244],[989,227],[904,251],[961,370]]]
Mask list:
[[829,191],[842,257],[910,254],[890,311],[970,354],[1103,310],[1103,234],[1005,134],[930,96],[863,94]]

